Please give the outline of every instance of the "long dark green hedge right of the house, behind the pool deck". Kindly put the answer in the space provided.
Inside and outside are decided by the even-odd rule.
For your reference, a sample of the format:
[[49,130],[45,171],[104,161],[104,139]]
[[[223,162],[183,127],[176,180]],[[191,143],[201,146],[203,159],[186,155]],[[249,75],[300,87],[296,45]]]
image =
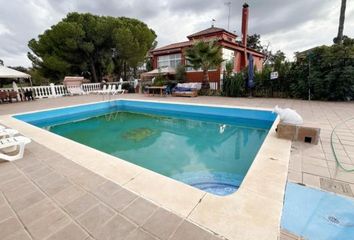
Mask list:
[[[277,71],[278,79],[270,79]],[[225,77],[226,96],[244,95],[247,72]],[[236,81],[238,78],[238,81]],[[261,72],[255,72],[253,96],[291,97],[326,101],[354,99],[354,39],[343,37],[342,44],[316,47],[296,53],[289,62],[281,51],[269,55]]]

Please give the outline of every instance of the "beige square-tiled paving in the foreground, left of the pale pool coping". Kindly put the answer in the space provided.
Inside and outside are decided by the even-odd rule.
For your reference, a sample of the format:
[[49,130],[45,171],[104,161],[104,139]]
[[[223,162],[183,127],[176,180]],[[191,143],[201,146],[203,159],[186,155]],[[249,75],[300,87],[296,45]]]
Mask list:
[[35,142],[0,182],[0,239],[218,239]]

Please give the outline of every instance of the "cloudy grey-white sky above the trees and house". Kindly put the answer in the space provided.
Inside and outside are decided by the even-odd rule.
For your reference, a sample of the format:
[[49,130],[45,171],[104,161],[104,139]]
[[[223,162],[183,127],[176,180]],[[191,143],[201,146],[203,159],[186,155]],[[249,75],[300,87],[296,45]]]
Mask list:
[[[0,59],[6,66],[31,66],[27,43],[69,12],[137,18],[157,34],[158,46],[186,41],[211,26],[241,35],[240,0],[0,0]],[[330,45],[337,35],[341,0],[249,0],[249,34],[263,45],[282,50],[291,60],[296,51]],[[354,1],[347,1],[344,35],[354,37]]]

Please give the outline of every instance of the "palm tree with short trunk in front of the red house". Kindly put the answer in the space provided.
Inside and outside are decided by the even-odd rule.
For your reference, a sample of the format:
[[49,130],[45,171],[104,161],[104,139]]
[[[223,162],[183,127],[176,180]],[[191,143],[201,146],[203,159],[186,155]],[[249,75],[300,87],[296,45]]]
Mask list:
[[221,46],[215,41],[198,41],[186,50],[186,59],[194,69],[202,69],[202,89],[210,89],[208,71],[224,61]]

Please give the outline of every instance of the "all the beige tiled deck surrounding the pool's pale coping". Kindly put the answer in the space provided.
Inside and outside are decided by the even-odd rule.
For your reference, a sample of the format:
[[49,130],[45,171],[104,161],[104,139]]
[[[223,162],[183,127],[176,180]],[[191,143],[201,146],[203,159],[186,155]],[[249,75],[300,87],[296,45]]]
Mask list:
[[[135,94],[123,98],[294,108],[306,124],[321,128],[321,141],[319,145],[293,143],[288,180],[320,188],[323,181],[320,178],[335,179],[345,183],[344,194],[353,197],[354,173],[336,167],[329,144],[333,127],[354,116],[353,103],[222,97],[149,98]],[[2,104],[0,115],[100,100],[103,100],[100,96],[81,96]],[[340,161],[354,168],[354,120],[338,130],[336,149]],[[23,160],[0,163],[0,239],[217,238],[37,143],[31,143],[27,150]],[[332,190],[338,192],[335,187]],[[105,234],[118,234],[118,237]]]

